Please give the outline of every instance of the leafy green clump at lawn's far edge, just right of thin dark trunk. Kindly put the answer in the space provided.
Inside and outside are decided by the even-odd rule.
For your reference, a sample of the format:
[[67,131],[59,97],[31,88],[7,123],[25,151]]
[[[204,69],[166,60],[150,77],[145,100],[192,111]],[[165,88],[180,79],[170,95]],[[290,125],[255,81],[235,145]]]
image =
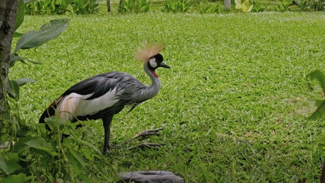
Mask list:
[[149,11],[150,1],[147,0],[122,0],[121,12],[145,13]]

